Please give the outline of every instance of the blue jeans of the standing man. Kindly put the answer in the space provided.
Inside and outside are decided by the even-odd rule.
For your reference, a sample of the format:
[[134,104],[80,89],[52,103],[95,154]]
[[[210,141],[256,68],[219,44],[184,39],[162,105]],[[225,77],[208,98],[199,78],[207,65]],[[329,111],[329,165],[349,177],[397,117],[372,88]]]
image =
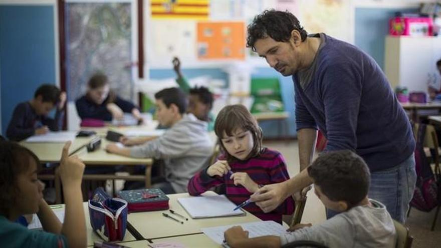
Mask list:
[[[390,169],[370,174],[368,197],[383,203],[393,219],[404,223],[416,184],[415,158],[412,153],[406,160]],[[326,209],[326,217],[337,212]]]

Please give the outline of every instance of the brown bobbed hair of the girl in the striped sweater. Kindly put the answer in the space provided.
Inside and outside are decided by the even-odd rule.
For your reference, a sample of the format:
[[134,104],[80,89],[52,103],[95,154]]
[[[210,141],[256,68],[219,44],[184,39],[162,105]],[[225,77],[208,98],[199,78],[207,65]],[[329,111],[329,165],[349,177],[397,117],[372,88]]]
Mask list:
[[262,150],[262,129],[250,111],[241,104],[225,106],[216,117],[214,132],[219,138],[220,147],[222,147],[228,163],[238,161],[238,159],[227,152],[220,139],[224,138],[224,133],[227,136],[233,136],[233,132],[237,129],[250,131],[253,135],[254,146],[247,159],[259,155]]

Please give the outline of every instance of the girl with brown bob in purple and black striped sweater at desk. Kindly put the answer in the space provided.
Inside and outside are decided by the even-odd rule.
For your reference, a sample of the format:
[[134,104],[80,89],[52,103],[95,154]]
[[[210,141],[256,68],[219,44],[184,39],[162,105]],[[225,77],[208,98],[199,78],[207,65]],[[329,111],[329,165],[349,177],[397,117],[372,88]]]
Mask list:
[[[225,184],[227,197],[239,205],[261,186],[289,179],[282,154],[262,147],[262,130],[245,106],[224,107],[217,115],[214,132],[224,154],[190,179],[187,186],[190,195]],[[262,220],[281,223],[283,214],[293,213],[294,201],[289,197],[269,213],[253,202],[244,209]]]

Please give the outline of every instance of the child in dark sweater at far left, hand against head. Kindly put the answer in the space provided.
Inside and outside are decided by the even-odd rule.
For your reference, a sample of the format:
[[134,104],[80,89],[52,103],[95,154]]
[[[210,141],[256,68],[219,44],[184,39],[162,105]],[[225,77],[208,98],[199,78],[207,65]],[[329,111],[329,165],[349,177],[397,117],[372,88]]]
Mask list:
[[[59,131],[63,127],[64,104],[66,93],[55,85],[44,84],[34,94],[34,99],[19,103],[14,109],[6,136],[13,141],[27,139],[34,134]],[[48,117],[57,106],[55,118]]]

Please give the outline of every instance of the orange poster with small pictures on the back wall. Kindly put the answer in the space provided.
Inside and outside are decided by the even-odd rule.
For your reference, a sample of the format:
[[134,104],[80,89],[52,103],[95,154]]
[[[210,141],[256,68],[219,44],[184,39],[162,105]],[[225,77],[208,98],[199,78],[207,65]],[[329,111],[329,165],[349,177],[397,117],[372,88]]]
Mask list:
[[243,22],[199,22],[197,24],[197,58],[245,60],[245,24]]

